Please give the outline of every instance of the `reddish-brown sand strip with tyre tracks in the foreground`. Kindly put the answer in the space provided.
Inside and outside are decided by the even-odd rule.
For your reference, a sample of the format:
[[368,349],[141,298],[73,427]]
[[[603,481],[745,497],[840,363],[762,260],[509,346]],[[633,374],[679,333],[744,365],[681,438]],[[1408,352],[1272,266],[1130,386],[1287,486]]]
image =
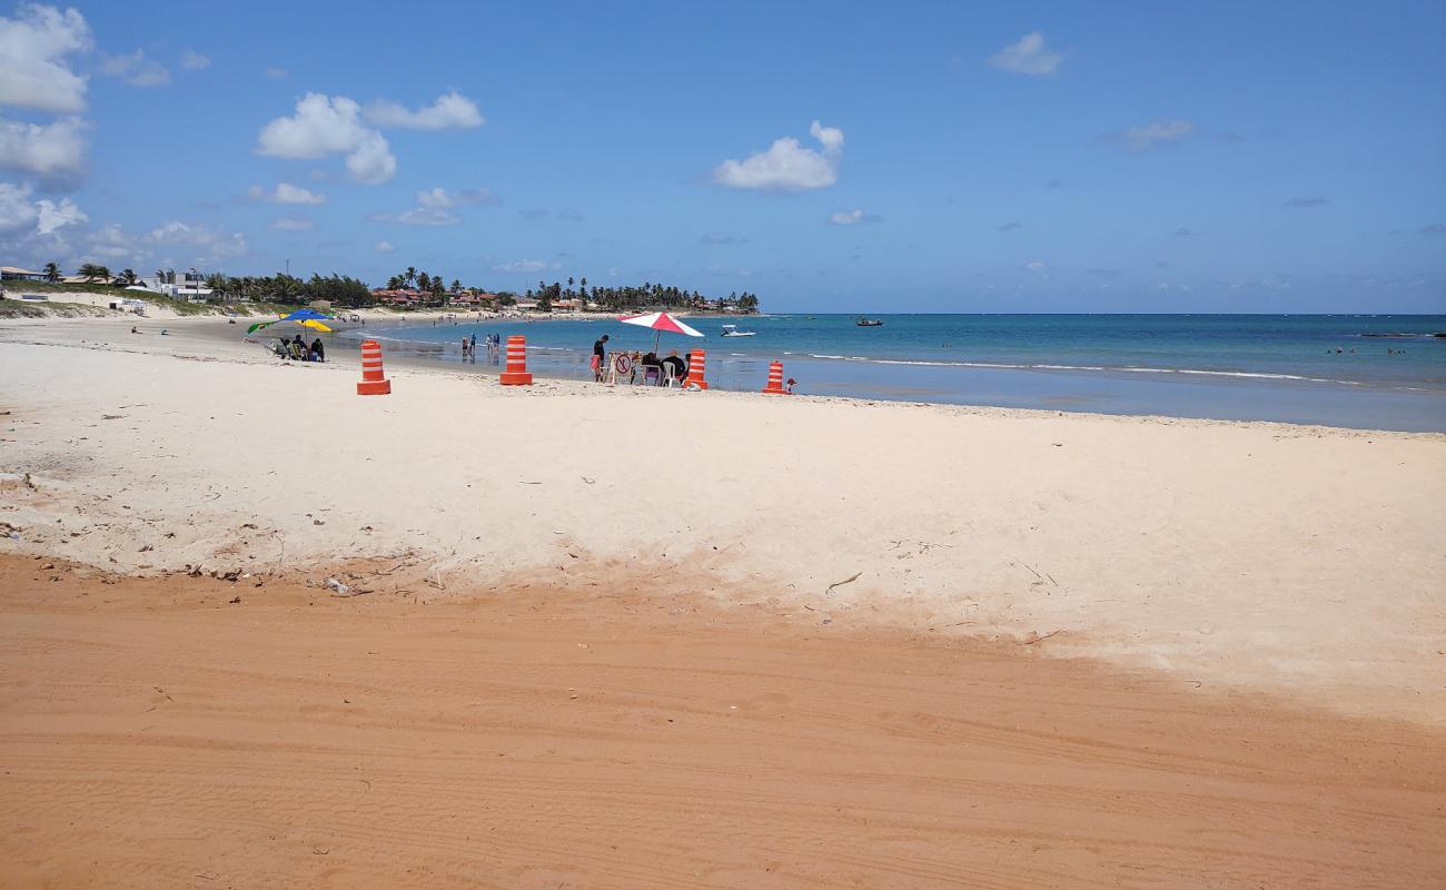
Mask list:
[[1437,731],[659,583],[341,599],[0,557],[0,884],[1446,874]]

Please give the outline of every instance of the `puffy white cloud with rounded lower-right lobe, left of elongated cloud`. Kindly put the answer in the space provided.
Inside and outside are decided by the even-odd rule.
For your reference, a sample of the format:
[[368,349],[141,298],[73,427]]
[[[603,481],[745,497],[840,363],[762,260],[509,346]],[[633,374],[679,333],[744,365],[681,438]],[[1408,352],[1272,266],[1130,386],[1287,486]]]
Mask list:
[[376,185],[396,174],[386,139],[360,120],[360,106],[346,96],[308,93],[296,113],[262,127],[256,152],[272,158],[309,159],[346,155],[347,171],[359,182]]

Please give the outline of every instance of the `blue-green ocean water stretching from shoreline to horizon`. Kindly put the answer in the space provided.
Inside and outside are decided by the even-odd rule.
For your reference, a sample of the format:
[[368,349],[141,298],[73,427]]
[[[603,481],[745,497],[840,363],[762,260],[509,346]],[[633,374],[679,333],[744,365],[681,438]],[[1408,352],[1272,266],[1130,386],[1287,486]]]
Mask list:
[[[1274,420],[1446,431],[1446,315],[853,315],[690,318],[704,339],[664,334],[661,355],[707,350],[709,382],[761,389],[768,363],[814,395],[1105,414]],[[722,337],[735,324],[752,337]],[[460,362],[473,333],[528,339],[529,370],[591,379],[600,334],[646,352],[652,331],[617,321],[366,326],[389,350]],[[482,353],[479,363],[486,363]]]

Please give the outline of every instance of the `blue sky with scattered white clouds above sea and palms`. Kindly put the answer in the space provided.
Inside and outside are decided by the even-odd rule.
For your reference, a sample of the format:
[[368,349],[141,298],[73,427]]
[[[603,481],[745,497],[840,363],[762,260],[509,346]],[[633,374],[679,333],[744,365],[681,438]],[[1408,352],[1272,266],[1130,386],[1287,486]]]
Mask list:
[[0,0],[0,263],[1446,313],[1446,4]]

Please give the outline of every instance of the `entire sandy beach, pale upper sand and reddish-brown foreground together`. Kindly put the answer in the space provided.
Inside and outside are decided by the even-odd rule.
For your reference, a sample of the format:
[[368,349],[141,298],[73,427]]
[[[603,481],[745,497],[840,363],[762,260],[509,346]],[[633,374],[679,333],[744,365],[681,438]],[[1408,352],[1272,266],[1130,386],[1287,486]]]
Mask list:
[[129,326],[0,327],[0,554],[257,577],[6,563],[20,884],[1446,867],[1443,436],[418,368],[359,398],[353,356]]

